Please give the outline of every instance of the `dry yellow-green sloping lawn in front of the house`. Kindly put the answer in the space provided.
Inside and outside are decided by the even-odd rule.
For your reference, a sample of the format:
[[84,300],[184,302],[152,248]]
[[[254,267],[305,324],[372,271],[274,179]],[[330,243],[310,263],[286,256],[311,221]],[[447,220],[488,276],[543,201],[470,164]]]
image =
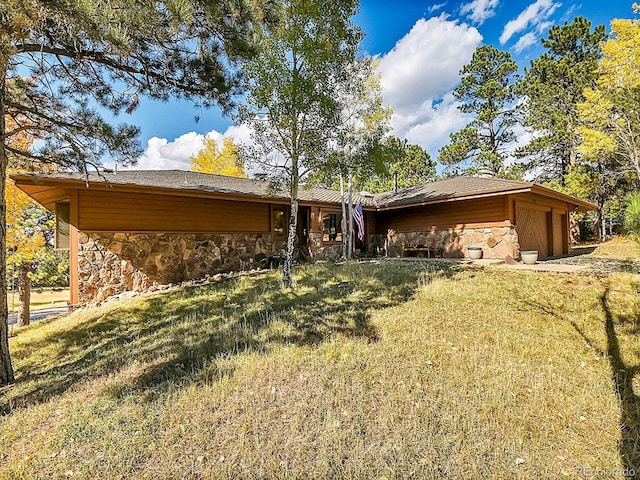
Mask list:
[[[640,275],[316,264],[11,339],[0,478],[622,478]],[[636,472],[638,472],[636,468]]]

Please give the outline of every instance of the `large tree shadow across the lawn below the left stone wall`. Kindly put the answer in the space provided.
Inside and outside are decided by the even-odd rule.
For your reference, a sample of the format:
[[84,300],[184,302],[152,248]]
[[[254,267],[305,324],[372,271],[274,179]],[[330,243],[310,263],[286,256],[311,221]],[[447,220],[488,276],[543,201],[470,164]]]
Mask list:
[[[0,409],[47,401],[132,364],[142,365],[142,373],[113,395],[148,390],[155,396],[176,383],[208,378],[205,368],[216,357],[268,352],[276,344],[317,345],[335,334],[376,341],[371,312],[409,299],[418,273],[411,266],[304,266],[295,290],[282,290],[274,273],[185,288],[88,316],[14,353],[18,380],[15,392],[0,397]],[[51,366],[43,369],[45,361]]]

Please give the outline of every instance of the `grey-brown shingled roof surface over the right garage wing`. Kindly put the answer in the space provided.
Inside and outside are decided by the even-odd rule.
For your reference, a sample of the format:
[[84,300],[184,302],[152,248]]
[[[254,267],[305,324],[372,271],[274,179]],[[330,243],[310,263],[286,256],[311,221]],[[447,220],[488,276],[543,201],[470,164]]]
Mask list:
[[374,195],[380,206],[433,202],[449,198],[531,187],[532,183],[488,177],[454,177]]

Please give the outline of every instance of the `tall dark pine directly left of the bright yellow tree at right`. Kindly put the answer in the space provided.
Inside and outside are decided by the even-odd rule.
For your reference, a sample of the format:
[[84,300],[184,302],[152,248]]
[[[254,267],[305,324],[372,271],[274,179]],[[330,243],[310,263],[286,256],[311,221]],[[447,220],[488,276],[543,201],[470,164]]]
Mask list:
[[518,85],[525,99],[524,124],[533,140],[517,153],[528,158],[528,169],[540,181],[565,183],[577,159],[578,103],[583,91],[596,84],[604,26],[591,30],[591,22],[578,17],[549,30],[542,40],[547,49],[533,60]]

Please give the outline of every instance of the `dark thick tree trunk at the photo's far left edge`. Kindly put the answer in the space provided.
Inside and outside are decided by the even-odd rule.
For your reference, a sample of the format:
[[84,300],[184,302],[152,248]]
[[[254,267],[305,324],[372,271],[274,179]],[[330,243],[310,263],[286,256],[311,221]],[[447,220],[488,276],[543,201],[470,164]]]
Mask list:
[[[0,59],[0,138],[5,133],[5,95],[7,59]],[[9,311],[7,308],[7,202],[5,182],[7,180],[7,151],[5,140],[0,141],[0,386],[14,381],[11,355],[9,354]]]

